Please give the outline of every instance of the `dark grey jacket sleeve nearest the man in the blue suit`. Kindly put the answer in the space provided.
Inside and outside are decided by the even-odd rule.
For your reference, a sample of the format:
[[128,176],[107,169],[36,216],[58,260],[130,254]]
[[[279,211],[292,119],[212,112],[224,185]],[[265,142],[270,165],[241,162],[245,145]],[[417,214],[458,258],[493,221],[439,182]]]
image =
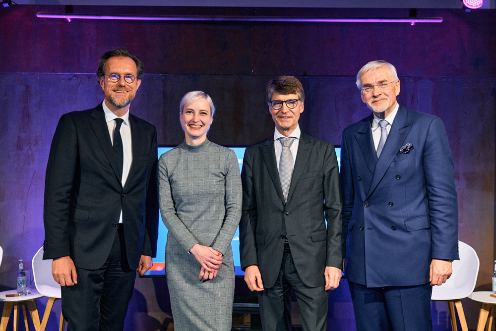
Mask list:
[[339,185],[339,167],[334,146],[329,143],[324,156],[324,212],[327,221],[327,256],[325,265],[343,269],[343,244],[341,231],[343,219],[341,214],[341,190]]

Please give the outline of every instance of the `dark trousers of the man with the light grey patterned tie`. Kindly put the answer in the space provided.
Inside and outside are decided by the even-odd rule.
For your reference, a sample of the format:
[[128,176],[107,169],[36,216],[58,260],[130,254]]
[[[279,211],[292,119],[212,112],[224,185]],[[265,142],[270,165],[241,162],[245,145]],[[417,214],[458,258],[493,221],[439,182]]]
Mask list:
[[291,330],[291,289],[294,289],[303,330],[325,331],[329,296],[324,287],[309,287],[303,283],[296,271],[289,246],[286,245],[276,283],[271,288],[258,292],[262,329]]

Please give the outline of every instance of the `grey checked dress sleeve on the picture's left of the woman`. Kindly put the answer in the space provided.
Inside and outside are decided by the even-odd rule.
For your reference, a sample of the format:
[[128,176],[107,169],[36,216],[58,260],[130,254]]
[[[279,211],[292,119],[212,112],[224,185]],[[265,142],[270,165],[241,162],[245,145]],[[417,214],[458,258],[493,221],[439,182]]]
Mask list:
[[196,237],[179,219],[174,209],[171,183],[164,156],[161,156],[157,166],[158,199],[162,221],[169,232],[179,241],[186,251],[198,243]]

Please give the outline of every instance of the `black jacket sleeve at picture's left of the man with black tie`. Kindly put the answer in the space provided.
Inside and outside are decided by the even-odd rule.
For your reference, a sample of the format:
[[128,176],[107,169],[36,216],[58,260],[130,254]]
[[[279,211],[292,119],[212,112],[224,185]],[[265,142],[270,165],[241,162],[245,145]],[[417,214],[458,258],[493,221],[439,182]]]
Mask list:
[[77,138],[74,120],[64,114],[55,130],[45,176],[44,259],[68,256],[69,199],[76,175]]

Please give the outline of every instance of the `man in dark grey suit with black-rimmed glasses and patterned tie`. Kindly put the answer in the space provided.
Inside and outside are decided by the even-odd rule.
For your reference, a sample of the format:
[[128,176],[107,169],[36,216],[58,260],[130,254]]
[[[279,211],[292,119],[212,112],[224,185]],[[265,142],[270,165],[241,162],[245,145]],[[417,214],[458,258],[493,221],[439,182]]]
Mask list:
[[266,98],[276,127],[245,152],[241,267],[258,291],[263,330],[290,330],[294,289],[303,330],[323,331],[326,291],[338,287],[343,268],[336,153],[330,142],[301,132],[298,79],[271,80]]

